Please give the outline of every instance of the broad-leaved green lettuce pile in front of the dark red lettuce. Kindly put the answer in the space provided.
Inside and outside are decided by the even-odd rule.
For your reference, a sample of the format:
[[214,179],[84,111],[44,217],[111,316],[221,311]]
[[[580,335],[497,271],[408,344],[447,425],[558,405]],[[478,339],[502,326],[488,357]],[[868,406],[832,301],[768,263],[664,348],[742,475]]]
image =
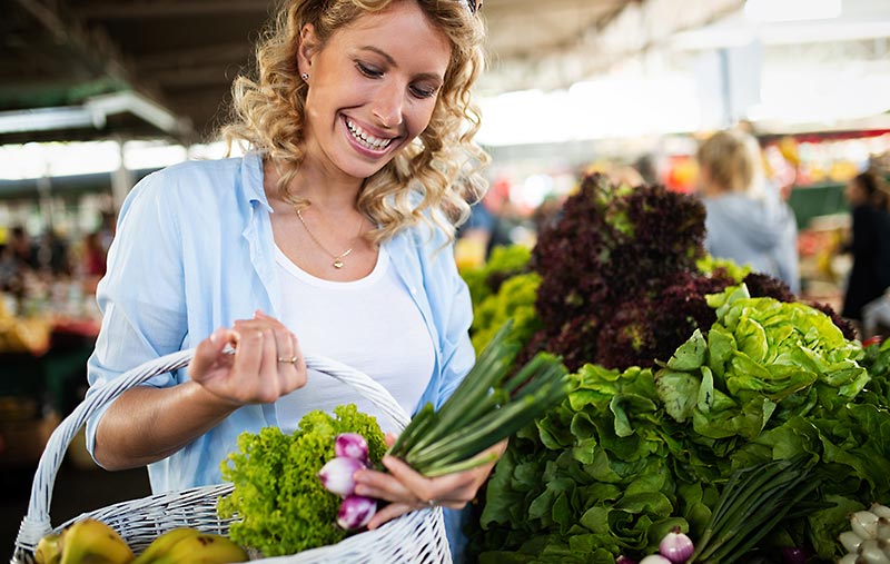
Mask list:
[[613,562],[673,526],[695,538],[734,471],[795,456],[814,462],[817,497],[834,505],[771,543],[831,558],[847,514],[890,498],[887,378],[860,393],[861,347],[821,311],[744,286],[710,303],[708,336],[662,368],[587,364],[567,400],[517,435],[487,487],[482,562]]

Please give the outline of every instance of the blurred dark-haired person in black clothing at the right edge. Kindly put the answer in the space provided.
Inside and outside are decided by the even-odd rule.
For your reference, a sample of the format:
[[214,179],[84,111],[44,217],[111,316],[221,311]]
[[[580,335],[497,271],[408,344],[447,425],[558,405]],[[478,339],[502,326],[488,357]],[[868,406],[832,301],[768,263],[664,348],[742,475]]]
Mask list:
[[843,317],[862,320],[866,304],[890,287],[890,197],[872,171],[856,176],[844,190],[852,209],[852,238],[846,250],[853,267],[843,299]]

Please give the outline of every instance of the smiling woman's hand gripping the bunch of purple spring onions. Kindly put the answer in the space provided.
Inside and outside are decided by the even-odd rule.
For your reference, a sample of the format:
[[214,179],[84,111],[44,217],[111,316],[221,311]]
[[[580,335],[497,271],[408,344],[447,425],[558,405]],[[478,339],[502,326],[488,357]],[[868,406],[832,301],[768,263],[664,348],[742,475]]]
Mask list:
[[[395,437],[387,435],[386,439],[392,444]],[[507,441],[504,439],[486,452],[495,453],[500,458],[506,447]],[[389,505],[378,511],[368,523],[368,528],[373,530],[389,520],[434,505],[453,509],[463,508],[476,497],[476,492],[488,478],[496,462],[493,462],[465,472],[428,478],[415,472],[405,462],[387,455],[383,457],[383,465],[389,473],[373,469],[356,472],[355,493],[389,502]]]

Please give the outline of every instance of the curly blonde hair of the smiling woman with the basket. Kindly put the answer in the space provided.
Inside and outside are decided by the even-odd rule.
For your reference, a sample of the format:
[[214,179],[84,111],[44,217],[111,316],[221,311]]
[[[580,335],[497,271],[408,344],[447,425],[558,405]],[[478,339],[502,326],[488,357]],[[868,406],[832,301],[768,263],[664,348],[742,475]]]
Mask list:
[[308,86],[297,70],[300,30],[308,23],[322,43],[338,29],[393,2],[416,1],[452,43],[452,55],[427,128],[392,161],[367,178],[358,209],[377,229],[382,243],[418,221],[432,221],[449,240],[469,205],[487,189],[479,170],[488,156],[473,142],[479,111],[471,87],[484,67],[484,27],[466,0],[288,0],[265,31],[256,50],[258,77],[239,76],[233,85],[233,120],[221,128],[231,147],[246,144],[280,167],[278,188],[295,206],[307,202],[288,185],[304,158],[304,110]]

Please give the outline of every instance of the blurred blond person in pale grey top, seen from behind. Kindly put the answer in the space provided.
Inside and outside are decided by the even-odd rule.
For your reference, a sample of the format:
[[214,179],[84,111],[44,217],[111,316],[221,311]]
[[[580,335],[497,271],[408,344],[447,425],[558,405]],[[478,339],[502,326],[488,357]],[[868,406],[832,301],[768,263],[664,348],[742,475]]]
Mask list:
[[708,253],[750,265],[800,293],[798,224],[765,180],[756,140],[742,131],[719,131],[699,147],[698,159]]

